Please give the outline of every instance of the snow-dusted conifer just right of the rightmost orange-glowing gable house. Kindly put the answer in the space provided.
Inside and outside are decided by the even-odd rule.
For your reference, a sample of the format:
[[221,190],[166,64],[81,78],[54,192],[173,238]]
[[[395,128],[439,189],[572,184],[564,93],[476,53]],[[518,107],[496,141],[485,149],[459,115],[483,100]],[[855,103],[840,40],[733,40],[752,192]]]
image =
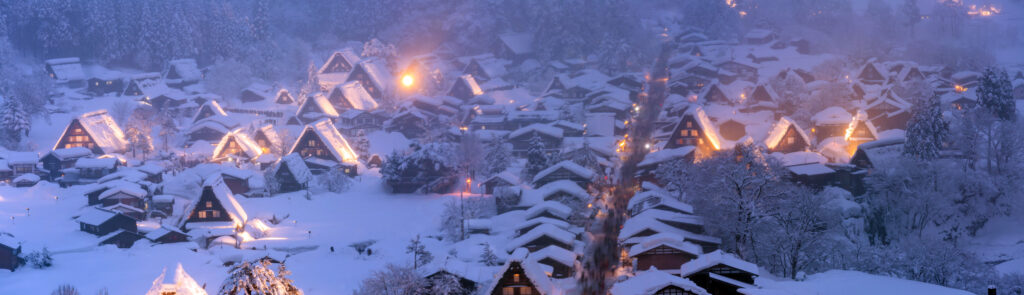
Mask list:
[[949,134],[949,124],[942,119],[938,96],[922,100],[914,106],[913,117],[907,123],[903,154],[933,160],[939,158],[939,151]]

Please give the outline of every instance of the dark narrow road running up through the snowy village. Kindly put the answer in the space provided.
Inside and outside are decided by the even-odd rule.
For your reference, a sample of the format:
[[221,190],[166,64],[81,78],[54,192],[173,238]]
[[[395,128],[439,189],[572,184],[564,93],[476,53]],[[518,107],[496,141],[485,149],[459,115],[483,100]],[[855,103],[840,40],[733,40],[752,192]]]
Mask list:
[[672,52],[671,43],[662,45],[660,53],[654,60],[654,68],[647,77],[647,89],[637,98],[640,112],[630,123],[627,136],[627,153],[618,168],[617,183],[600,187],[605,196],[607,215],[595,220],[587,228],[591,233],[592,243],[587,246],[584,257],[584,276],[581,281],[583,294],[608,294],[608,289],[615,278],[620,266],[622,249],[618,248],[618,229],[629,217],[627,205],[630,198],[640,188],[636,179],[637,163],[647,154],[644,145],[650,142],[654,131],[654,122],[668,96],[668,59]]

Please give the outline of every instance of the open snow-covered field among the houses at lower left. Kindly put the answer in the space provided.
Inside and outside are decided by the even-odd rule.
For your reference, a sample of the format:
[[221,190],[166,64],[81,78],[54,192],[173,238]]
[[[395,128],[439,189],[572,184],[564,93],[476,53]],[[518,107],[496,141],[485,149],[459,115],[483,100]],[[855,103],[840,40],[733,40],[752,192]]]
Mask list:
[[[14,272],[0,271],[0,294],[35,294],[63,283],[85,293],[108,288],[111,294],[141,294],[163,268],[172,271],[177,263],[199,284],[205,284],[207,291],[215,292],[227,275],[225,260],[267,254],[279,259],[291,255],[286,265],[305,294],[348,294],[384,264],[410,263],[406,246],[417,234],[437,231],[438,216],[451,198],[388,195],[381,192],[379,178],[362,177],[347,193],[314,195],[311,200],[303,193],[239,198],[252,217],[291,216],[271,229],[267,241],[244,246],[262,247],[265,243],[270,249],[265,251],[228,247],[196,250],[194,243],[153,245],[145,240],[131,249],[99,247],[95,246],[96,237],[79,231],[72,219],[85,208],[85,199],[75,187],[65,189],[46,182],[35,187],[0,186],[0,231],[25,241],[27,252],[47,247],[54,261],[47,269],[26,266]],[[370,257],[348,247],[367,240],[377,241]],[[427,243],[428,249],[431,244]]]

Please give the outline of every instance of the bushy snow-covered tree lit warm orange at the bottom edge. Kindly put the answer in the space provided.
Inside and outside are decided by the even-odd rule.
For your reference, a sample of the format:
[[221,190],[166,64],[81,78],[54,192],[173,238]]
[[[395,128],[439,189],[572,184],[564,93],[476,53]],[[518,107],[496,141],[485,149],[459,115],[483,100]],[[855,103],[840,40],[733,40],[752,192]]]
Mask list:
[[292,284],[292,280],[285,278],[290,272],[284,263],[279,265],[278,273],[270,268],[270,259],[260,258],[231,266],[217,294],[302,295],[302,291]]

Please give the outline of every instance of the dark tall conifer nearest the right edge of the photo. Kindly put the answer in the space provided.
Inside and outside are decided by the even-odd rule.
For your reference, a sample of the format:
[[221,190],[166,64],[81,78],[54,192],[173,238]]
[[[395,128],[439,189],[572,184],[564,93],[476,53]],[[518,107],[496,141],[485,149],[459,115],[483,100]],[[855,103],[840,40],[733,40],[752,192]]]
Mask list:
[[1015,121],[1017,118],[1017,101],[1014,99],[1013,84],[1007,71],[994,68],[985,69],[978,85],[978,103],[987,109],[1002,121]]

